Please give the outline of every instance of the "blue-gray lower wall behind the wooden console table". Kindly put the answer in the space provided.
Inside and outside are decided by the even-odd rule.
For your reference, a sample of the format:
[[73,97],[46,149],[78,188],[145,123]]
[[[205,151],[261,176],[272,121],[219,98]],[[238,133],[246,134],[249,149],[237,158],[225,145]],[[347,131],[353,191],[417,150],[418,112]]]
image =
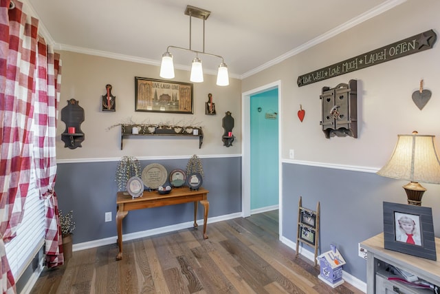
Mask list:
[[[144,169],[146,165],[159,163],[169,174],[173,169],[185,170],[188,159],[140,160],[140,164]],[[208,224],[209,218],[241,212],[241,157],[201,158],[201,163],[205,176],[203,187],[210,191]],[[55,191],[63,213],[74,211],[74,244],[117,235],[117,166],[118,161],[58,163]],[[108,211],[112,213],[111,222],[105,222],[104,216]],[[199,205],[197,213],[197,219],[202,219],[203,206]],[[122,233],[157,229],[190,222],[193,218],[192,203],[130,211],[124,218]]]

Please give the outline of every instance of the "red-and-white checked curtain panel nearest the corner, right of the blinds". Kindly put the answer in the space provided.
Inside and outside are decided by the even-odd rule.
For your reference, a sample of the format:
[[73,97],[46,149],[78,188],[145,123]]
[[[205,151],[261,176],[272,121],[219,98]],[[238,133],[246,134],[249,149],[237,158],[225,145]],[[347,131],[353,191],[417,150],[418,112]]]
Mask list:
[[45,255],[49,268],[61,265],[63,240],[58,214],[58,201],[54,191],[56,178],[56,118],[61,90],[61,62],[59,54],[48,48],[43,38],[38,43],[36,73],[36,101],[34,104],[34,158],[37,185],[44,199]]

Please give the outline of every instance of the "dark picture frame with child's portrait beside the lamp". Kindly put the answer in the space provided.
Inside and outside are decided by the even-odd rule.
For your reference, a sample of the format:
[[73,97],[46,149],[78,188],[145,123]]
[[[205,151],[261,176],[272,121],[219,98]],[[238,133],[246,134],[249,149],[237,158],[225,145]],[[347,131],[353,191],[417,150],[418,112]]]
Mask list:
[[437,260],[432,209],[384,202],[384,248]]

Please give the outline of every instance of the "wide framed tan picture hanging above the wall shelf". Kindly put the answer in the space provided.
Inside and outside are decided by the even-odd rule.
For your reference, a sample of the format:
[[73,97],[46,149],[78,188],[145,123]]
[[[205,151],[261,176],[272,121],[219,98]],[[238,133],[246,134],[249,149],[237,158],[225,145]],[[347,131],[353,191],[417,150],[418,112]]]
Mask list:
[[192,83],[135,76],[135,111],[193,114]]

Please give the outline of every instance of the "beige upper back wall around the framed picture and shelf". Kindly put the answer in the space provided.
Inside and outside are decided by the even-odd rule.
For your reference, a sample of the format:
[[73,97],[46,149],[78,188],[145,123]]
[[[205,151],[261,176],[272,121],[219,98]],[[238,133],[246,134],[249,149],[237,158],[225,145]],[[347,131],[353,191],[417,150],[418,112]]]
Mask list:
[[[194,83],[194,114],[166,114],[135,112],[135,76],[159,78],[159,67],[120,61],[87,54],[61,51],[62,83],[58,107],[56,157],[58,160],[120,158],[121,156],[191,156],[241,154],[241,81],[230,78],[230,85],[215,85],[216,76],[205,74],[203,83]],[[189,82],[189,72],[176,70],[172,81]],[[105,85],[111,84],[111,94],[116,96],[116,112],[102,112],[100,103],[106,94]],[[216,116],[205,114],[208,94],[212,93],[217,111]],[[85,133],[83,147],[69,149],[61,141],[65,123],[61,121],[61,109],[67,100],[75,98],[85,109],[85,121],[81,129]],[[222,118],[225,112],[232,112],[235,120],[233,129],[236,140],[232,147],[224,147],[221,140]],[[196,138],[173,136],[124,139],[120,150],[120,127],[108,129],[117,123],[175,123],[198,124],[203,127],[203,145],[199,149]]]

